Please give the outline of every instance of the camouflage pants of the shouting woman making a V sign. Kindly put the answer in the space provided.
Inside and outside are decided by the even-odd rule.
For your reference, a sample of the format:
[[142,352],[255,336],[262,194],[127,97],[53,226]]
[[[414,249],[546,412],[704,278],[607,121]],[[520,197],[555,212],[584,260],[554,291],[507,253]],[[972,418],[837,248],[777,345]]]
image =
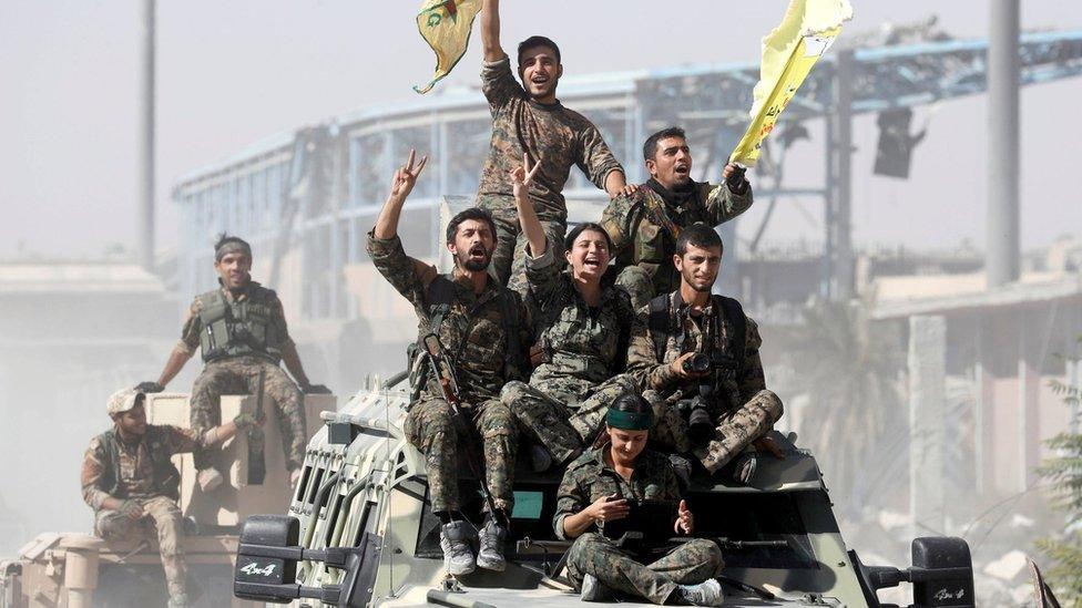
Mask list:
[[527,436],[543,445],[557,463],[564,464],[593,441],[609,405],[621,394],[637,391],[631,375],[620,374],[590,389],[581,402],[564,403],[551,393],[566,395],[566,391],[547,393],[545,387],[513,381],[503,387],[500,401]]

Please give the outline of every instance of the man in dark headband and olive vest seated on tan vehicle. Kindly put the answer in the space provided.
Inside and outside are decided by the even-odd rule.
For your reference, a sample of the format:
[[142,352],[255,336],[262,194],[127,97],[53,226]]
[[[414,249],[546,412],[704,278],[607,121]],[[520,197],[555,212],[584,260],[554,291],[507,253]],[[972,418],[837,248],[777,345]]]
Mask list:
[[[181,341],[165,362],[161,377],[156,382],[142,382],[136,389],[147,393],[164,391],[195,354],[195,349],[201,349],[206,365],[192,387],[191,424],[203,432],[221,422],[222,395],[256,393],[262,374],[264,396],[273,405],[282,433],[289,481],[295,484],[308,442],[304,398],[278,362],[286,364],[305,393],[330,391],[308,382],[297,347],[286,329],[277,293],[252,280],[252,247],[238,237],[223,234],[214,246],[214,269],[221,287],[195,298]],[[261,454],[262,430],[254,429],[248,442]],[[204,492],[222,484],[222,474],[214,468],[208,454],[198,455],[195,467]]]

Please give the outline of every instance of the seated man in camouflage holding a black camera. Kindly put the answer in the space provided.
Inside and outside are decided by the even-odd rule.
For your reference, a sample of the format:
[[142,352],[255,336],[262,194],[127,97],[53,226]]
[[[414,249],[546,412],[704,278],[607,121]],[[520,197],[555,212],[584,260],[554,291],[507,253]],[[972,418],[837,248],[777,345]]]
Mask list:
[[643,374],[644,396],[660,413],[655,440],[694,454],[712,474],[743,452],[734,476],[748,483],[757,462],[745,451],[751,444],[782,456],[765,435],[783,409],[766,389],[758,326],[733,298],[711,295],[722,253],[705,224],[681,233],[673,255],[680,289],[640,311],[652,348],[632,349],[629,365]]

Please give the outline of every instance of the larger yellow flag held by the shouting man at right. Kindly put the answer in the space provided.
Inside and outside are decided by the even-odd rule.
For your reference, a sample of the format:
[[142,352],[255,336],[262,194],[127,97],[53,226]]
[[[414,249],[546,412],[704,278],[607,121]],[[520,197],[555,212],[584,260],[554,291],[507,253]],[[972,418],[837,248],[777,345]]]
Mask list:
[[782,24],[763,39],[763,65],[753,91],[752,124],[729,156],[729,163],[754,167],[763,140],[774,130],[812,66],[853,19],[848,0],[792,0]]

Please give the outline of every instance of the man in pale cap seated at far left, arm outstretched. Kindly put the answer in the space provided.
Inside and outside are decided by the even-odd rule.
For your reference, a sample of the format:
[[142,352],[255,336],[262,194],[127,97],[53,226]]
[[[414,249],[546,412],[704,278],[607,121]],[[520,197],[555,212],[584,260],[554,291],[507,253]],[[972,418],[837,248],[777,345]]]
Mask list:
[[[153,525],[165,568],[170,608],[188,606],[186,566],[181,549],[181,474],[170,458],[216,445],[255,425],[241,414],[205,432],[146,424],[145,395],[134,389],[113,393],[108,411],[113,427],[90,441],[83,456],[83,499],[94,509],[94,533],[126,538]],[[149,527],[149,526],[147,526]]]

